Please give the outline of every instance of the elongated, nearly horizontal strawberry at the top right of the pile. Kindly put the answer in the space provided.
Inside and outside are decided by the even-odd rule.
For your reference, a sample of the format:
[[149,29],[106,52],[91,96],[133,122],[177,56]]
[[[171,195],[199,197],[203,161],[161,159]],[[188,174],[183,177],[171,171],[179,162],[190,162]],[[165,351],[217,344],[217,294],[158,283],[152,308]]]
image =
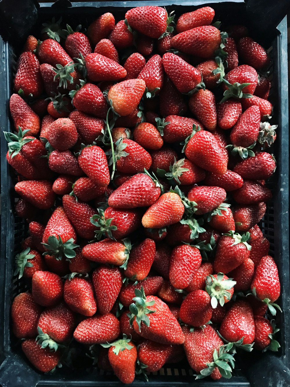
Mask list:
[[202,7],[195,11],[186,12],[179,17],[176,24],[176,31],[177,33],[181,33],[195,27],[209,26],[214,16],[215,11],[211,7]]

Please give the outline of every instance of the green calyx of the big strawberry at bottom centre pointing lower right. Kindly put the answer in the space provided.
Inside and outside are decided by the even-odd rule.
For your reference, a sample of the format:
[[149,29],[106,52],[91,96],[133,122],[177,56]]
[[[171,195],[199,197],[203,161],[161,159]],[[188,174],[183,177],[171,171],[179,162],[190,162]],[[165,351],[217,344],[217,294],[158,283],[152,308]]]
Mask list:
[[147,307],[154,305],[155,301],[146,301],[146,296],[144,293],[143,286],[141,289],[135,289],[135,297],[133,298],[135,303],[131,303],[128,313],[130,317],[130,325],[133,324],[134,319],[136,318],[136,323],[139,327],[139,332],[141,332],[141,322],[143,322],[147,327],[150,325],[150,320],[148,314],[156,312],[155,310],[150,310]]

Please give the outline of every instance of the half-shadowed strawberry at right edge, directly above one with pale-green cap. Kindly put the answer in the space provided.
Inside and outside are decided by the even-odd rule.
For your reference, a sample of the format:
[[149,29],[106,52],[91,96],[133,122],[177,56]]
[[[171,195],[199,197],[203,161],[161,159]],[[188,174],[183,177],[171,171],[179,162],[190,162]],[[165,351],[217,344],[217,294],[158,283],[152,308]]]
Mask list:
[[247,231],[263,218],[266,212],[264,202],[251,205],[237,205],[233,207],[232,213],[235,219],[237,231]]

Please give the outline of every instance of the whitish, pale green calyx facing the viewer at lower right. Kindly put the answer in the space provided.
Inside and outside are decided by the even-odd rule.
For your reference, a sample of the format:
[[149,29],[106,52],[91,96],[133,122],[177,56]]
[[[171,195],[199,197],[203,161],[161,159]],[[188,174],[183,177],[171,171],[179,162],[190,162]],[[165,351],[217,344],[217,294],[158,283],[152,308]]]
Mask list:
[[223,307],[225,298],[230,300],[232,295],[229,290],[237,283],[233,281],[233,278],[223,279],[223,273],[218,273],[217,278],[210,274],[206,276],[205,282],[205,291],[210,296],[210,303],[214,309],[218,306],[218,303]]

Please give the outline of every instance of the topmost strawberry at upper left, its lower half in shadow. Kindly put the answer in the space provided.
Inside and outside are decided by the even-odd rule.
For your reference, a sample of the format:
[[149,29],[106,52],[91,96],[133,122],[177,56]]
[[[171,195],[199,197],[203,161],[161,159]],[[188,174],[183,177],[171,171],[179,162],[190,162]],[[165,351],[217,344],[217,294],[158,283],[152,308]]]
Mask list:
[[99,16],[95,21],[93,21],[87,30],[87,35],[92,43],[92,46],[95,47],[96,44],[113,31],[115,26],[114,16],[110,12]]

